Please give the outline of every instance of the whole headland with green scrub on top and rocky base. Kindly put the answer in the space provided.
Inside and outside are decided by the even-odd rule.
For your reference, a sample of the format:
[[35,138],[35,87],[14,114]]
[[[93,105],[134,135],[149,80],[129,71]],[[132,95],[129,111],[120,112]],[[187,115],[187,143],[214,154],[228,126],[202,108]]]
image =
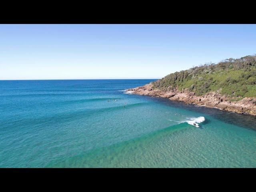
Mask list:
[[256,116],[256,55],[175,72],[127,92]]

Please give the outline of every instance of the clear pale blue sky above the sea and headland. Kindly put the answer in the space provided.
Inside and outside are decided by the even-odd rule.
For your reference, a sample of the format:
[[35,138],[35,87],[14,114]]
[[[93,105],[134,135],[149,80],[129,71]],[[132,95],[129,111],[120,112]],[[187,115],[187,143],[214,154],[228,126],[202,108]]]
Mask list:
[[0,25],[0,80],[162,78],[256,53],[256,25]]

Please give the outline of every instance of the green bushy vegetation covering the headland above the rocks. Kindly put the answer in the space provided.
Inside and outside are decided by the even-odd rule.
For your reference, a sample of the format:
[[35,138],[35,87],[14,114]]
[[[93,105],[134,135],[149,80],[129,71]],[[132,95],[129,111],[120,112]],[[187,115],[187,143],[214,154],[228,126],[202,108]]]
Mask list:
[[256,55],[226,59],[218,64],[208,63],[175,72],[153,82],[154,88],[179,90],[189,88],[201,96],[219,91],[228,97],[256,97]]

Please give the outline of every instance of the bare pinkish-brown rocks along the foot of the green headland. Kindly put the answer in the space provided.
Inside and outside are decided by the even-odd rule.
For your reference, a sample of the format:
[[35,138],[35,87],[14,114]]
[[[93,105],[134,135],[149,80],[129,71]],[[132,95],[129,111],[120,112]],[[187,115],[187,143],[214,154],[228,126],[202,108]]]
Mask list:
[[245,97],[239,101],[231,101],[232,98],[223,96],[218,92],[210,92],[204,96],[196,96],[195,92],[190,92],[188,88],[182,91],[178,90],[178,88],[159,90],[153,89],[153,85],[151,83],[141,87],[128,89],[126,92],[138,95],[164,97],[170,100],[182,101],[188,104],[196,104],[198,106],[218,108],[220,110],[226,110],[229,112],[256,116],[256,98]]

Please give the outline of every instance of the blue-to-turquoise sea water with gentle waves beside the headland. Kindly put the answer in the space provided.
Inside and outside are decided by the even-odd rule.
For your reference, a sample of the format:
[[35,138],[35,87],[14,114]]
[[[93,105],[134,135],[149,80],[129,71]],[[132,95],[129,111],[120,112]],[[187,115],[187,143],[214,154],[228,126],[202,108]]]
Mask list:
[[256,167],[255,117],[122,91],[151,81],[0,81],[0,167]]

